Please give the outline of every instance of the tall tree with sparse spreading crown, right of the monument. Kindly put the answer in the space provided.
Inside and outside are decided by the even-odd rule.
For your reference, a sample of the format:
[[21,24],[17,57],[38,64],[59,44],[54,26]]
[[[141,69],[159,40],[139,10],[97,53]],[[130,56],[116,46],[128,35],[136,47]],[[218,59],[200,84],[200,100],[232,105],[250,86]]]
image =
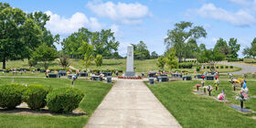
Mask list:
[[187,42],[191,39],[197,40],[200,37],[207,37],[207,32],[203,27],[193,27],[193,23],[182,21],[176,23],[173,30],[167,31],[165,45],[166,48],[175,48],[176,56],[178,60],[181,61],[181,59],[186,57]]

